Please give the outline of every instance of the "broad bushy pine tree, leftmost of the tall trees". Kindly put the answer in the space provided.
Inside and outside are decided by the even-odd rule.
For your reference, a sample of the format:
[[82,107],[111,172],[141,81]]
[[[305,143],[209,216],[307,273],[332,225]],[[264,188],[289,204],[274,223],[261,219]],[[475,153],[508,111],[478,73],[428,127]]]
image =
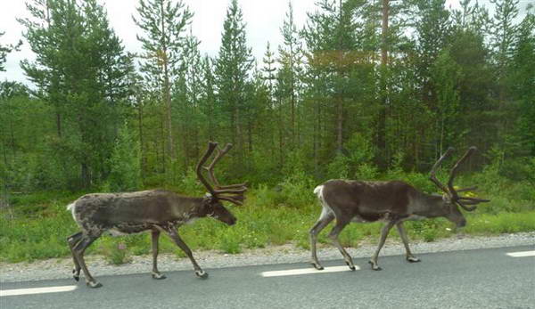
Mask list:
[[130,58],[95,0],[36,0],[29,8],[32,18],[20,21],[37,59],[21,67],[56,111],[59,155],[76,158],[82,186],[99,183],[108,171],[118,102],[128,93]]

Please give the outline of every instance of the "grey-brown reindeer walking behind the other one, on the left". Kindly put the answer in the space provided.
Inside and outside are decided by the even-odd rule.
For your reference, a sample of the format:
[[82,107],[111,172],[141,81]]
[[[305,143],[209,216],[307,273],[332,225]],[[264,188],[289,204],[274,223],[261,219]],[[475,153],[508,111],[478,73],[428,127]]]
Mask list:
[[[86,276],[86,284],[91,288],[99,288],[101,283],[95,281],[89,273],[84,261],[84,252],[103,232],[131,234],[136,232],[152,232],[152,278],[164,279],[158,271],[158,239],[161,232],[169,235],[179,248],[190,258],[195,274],[207,278],[208,273],[202,271],[195,262],[192,251],[180,238],[177,228],[196,218],[213,217],[228,225],[233,225],[236,218],[221,201],[226,200],[236,205],[243,204],[243,193],[247,190],[245,183],[219,185],[213,173],[213,167],[232,147],[226,144],[223,150],[218,149],[217,142],[210,142],[208,150],[197,165],[197,176],[209,191],[202,198],[180,196],[171,191],[151,190],[124,193],[86,194],[72,202],[67,208],[72,212],[74,220],[81,232],[70,235],[67,239],[74,260],[73,277],[79,280],[80,269]],[[210,166],[204,163],[217,150]],[[202,169],[208,171],[210,183],[202,175]],[[215,189],[214,189],[215,188]]]

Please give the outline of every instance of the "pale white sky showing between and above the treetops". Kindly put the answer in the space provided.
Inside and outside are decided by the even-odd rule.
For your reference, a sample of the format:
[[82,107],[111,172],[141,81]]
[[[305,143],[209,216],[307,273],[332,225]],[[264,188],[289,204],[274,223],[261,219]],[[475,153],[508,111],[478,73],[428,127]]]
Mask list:
[[[223,21],[226,8],[230,0],[183,0],[190,10],[194,12],[192,22],[193,35],[201,40],[202,53],[210,56],[218,54],[223,32]],[[459,0],[447,0],[448,6],[458,7]],[[490,0],[479,0],[488,4]],[[25,6],[26,0],[0,0],[0,31],[5,32],[2,45],[15,44],[23,40],[20,52],[13,52],[7,56],[5,72],[0,72],[0,80],[15,80],[29,84],[22,69],[21,60],[35,59],[29,45],[24,42],[22,32],[24,28],[16,18],[29,16]],[[315,11],[316,0],[292,0],[293,18],[298,28],[301,28],[306,19],[307,12]],[[526,4],[535,4],[535,0],[520,0],[521,11]],[[138,0],[99,0],[106,8],[111,27],[120,37],[128,52],[141,52],[141,44],[136,39],[136,33],[141,32],[132,20],[136,14]],[[288,11],[288,0],[239,0],[243,11],[243,20],[246,22],[247,44],[251,46],[252,53],[257,60],[261,60],[266,52],[269,41],[272,50],[282,44],[280,28],[283,25],[285,13]]]

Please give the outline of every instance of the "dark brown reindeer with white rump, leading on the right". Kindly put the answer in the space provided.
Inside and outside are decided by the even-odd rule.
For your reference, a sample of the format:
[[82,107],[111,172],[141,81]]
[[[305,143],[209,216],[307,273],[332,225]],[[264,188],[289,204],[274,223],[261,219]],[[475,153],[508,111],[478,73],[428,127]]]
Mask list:
[[[390,182],[361,182],[350,180],[329,180],[314,189],[317,198],[322,204],[322,212],[317,223],[310,229],[310,250],[312,254],[312,265],[318,270],[323,267],[317,261],[316,242],[317,234],[325,228],[327,224],[336,218],[336,224],[329,233],[334,246],[340,250],[346,264],[351,270],[355,270],[355,265],[351,256],[346,252],[338,241],[338,235],[350,222],[370,223],[383,221],[385,224],[381,230],[381,240],[369,263],[375,271],[381,270],[377,264],[377,256],[383,248],[384,240],[391,228],[396,225],[399,236],[403,240],[406,249],[408,262],[420,262],[408,248],[407,233],[403,227],[403,222],[407,220],[420,220],[425,218],[445,217],[455,223],[457,227],[466,224],[465,216],[457,206],[463,207],[467,211],[473,211],[474,205],[481,202],[489,202],[489,199],[475,199],[462,197],[458,192],[475,190],[475,187],[465,189],[454,189],[453,181],[457,174],[458,167],[472,155],[475,147],[466,151],[465,155],[457,161],[451,170],[448,186],[440,183],[435,173],[440,162],[449,156],[452,148],[444,153],[434,164],[431,170],[430,180],[435,183],[444,195],[427,194],[416,190],[408,183],[400,181]],[[472,205],[472,206],[468,206]]]

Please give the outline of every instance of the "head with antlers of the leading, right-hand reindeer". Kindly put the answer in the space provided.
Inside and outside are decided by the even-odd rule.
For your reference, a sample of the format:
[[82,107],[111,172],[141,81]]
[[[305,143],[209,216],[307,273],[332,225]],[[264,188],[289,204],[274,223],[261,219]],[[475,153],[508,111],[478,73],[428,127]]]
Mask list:
[[465,155],[457,161],[455,166],[451,169],[451,172],[449,173],[449,180],[448,180],[448,186],[445,186],[444,184],[440,183],[440,181],[436,177],[436,169],[440,166],[440,163],[443,159],[449,156],[449,154],[453,151],[453,148],[449,147],[448,150],[440,157],[440,159],[434,164],[431,170],[431,175],[429,176],[429,179],[435,183],[440,190],[444,191],[444,194],[442,196],[442,202],[441,206],[445,209],[445,217],[449,219],[449,221],[457,224],[457,227],[463,227],[466,224],[465,216],[458,207],[462,207],[466,211],[473,211],[476,208],[476,205],[483,202],[490,202],[490,199],[476,199],[471,197],[464,197],[459,196],[459,192],[463,191],[473,191],[476,190],[477,187],[469,187],[464,189],[455,189],[453,186],[453,181],[455,179],[455,176],[457,175],[458,167],[466,160],[468,157],[470,157],[473,154],[473,151],[475,151],[475,147],[470,147],[466,152]]

